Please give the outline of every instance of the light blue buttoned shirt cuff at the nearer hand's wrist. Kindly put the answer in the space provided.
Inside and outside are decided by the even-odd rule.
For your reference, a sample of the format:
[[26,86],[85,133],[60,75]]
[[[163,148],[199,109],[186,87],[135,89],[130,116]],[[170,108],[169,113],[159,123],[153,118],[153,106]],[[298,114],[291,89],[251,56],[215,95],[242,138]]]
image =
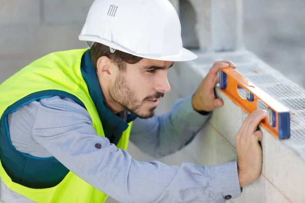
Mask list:
[[241,189],[236,161],[215,165],[211,177],[217,202],[224,202],[240,196]]

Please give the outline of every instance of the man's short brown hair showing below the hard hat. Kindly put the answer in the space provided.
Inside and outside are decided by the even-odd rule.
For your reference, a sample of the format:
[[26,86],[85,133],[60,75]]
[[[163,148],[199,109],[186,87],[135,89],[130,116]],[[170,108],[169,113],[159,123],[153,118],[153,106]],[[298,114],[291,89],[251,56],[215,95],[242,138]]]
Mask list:
[[121,71],[125,71],[126,63],[135,64],[142,60],[142,57],[134,56],[123,51],[116,50],[114,53],[110,52],[110,48],[106,45],[95,42],[89,50],[91,61],[97,69],[97,62],[101,56],[107,56],[116,63]]

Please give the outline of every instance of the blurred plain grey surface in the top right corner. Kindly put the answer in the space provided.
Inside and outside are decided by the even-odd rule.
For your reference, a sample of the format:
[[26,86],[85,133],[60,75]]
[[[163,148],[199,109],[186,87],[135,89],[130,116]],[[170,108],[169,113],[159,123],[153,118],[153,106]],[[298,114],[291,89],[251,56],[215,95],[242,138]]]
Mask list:
[[305,1],[243,2],[246,48],[305,87]]

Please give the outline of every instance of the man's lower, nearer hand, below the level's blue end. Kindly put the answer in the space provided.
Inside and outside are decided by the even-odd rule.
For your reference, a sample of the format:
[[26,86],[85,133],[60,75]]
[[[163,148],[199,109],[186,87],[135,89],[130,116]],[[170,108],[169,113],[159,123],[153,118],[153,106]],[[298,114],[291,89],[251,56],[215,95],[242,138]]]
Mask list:
[[236,153],[238,156],[238,179],[240,187],[255,181],[262,170],[262,148],[258,141],[263,138],[262,131],[256,130],[258,124],[267,116],[264,110],[252,112],[237,132]]

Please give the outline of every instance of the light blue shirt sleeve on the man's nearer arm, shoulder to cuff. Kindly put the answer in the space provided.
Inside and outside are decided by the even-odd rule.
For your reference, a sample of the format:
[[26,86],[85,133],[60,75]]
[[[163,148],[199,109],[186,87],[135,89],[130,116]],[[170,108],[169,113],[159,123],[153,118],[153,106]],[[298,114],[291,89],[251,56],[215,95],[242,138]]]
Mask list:
[[70,100],[41,103],[33,137],[75,175],[119,202],[218,203],[226,195],[240,195],[236,162],[175,166],[137,161],[98,136],[86,110]]

